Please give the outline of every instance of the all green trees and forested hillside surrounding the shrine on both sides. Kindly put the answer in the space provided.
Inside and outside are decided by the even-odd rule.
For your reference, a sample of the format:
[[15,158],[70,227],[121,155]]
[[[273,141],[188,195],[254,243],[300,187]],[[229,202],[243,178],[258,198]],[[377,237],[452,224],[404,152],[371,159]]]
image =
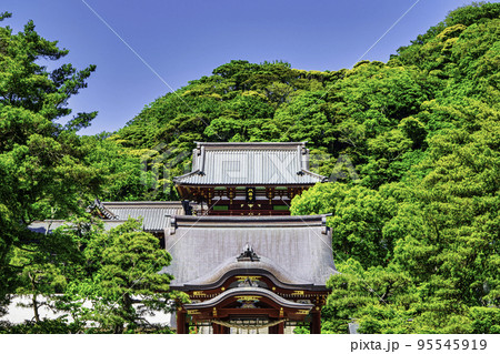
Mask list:
[[[308,141],[314,172],[332,182],[296,198],[292,213],[333,214],[342,273],[329,281],[323,333],[351,321],[367,333],[500,333],[500,3],[451,11],[387,63],[304,71],[234,60],[96,136],[76,133],[94,113],[56,123],[94,68],[46,72],[34,60],[67,51],[33,29],[0,29],[0,300],[112,299],[113,280],[99,274],[121,265],[98,267],[102,230],[30,243],[31,221],[82,215],[96,196],[178,200],[172,178],[189,169],[196,141]],[[138,232],[128,227],[123,239]],[[51,257],[52,246],[86,245]]]

